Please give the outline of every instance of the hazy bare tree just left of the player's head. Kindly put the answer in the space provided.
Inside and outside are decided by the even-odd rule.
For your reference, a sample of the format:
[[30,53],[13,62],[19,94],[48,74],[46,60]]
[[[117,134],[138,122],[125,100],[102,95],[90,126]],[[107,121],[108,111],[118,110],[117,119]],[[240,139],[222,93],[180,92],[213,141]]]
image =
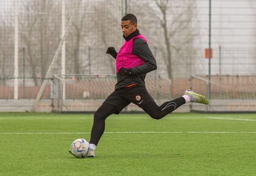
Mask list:
[[[111,5],[113,1],[82,2],[80,12],[73,21],[73,26],[69,32],[66,44],[68,56],[68,72],[81,74],[88,73],[90,67],[97,67],[102,71],[111,70],[115,72],[115,60],[104,59],[107,57],[105,50],[118,42],[116,28],[118,28],[115,13]],[[70,7],[72,8],[72,7]],[[87,11],[87,9],[90,9]],[[113,21],[116,22],[115,25]],[[113,29],[113,26],[114,29]],[[120,41],[120,40],[119,40]],[[89,53],[90,52],[90,53]],[[89,56],[91,55],[91,56]],[[90,58],[89,58],[90,57]],[[94,66],[89,64],[94,63]],[[102,64],[106,62],[106,64]],[[109,69],[110,66],[110,69]]]

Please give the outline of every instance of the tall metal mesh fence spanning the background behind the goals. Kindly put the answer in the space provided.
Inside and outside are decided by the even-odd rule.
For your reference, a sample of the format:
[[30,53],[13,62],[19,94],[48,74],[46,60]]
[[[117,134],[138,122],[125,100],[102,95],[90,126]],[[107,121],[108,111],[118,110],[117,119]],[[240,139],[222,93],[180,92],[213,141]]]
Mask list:
[[192,87],[218,101],[211,106],[222,102],[222,110],[232,110],[227,101],[240,99],[249,102],[240,103],[243,109],[256,110],[254,0],[0,0],[0,111],[19,111],[24,100],[33,106],[43,82],[36,109],[51,111],[51,93],[45,92],[54,93],[53,75],[115,74],[115,59],[105,50],[121,47],[125,13],[137,16],[157,59],[158,69],[149,75],[171,81],[169,98]]

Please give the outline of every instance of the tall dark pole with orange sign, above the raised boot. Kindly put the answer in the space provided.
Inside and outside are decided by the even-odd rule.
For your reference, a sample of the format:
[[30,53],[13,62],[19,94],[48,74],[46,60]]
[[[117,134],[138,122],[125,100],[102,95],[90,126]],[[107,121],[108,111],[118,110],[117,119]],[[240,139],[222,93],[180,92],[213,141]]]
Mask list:
[[211,36],[212,36],[212,0],[209,0],[209,49],[208,49],[208,91],[207,96],[211,99]]

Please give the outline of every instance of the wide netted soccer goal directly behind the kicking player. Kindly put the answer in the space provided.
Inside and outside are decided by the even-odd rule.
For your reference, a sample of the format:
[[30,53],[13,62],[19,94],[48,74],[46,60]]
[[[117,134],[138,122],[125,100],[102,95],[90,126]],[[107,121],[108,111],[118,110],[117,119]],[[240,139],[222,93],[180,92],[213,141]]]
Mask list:
[[[105,98],[113,92],[115,75],[54,75],[53,106],[57,112],[93,112],[101,106]],[[161,75],[148,75],[148,92],[157,101],[163,103],[171,99],[171,82]],[[65,89],[65,91],[63,91]],[[65,98],[64,98],[65,97]],[[130,104],[125,111],[140,111]]]

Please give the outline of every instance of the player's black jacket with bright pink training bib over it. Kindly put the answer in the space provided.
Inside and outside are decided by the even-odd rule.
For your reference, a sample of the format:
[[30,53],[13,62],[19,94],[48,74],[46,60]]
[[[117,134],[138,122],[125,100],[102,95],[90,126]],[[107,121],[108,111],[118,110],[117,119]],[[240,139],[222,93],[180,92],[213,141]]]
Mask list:
[[[149,49],[148,42],[143,35],[140,35],[138,29],[127,36],[123,46],[116,58],[116,76],[118,82],[115,89],[127,87],[129,85],[145,86],[146,73],[157,69],[157,63],[151,50]],[[119,69],[124,67],[132,69],[131,76],[121,76]]]

